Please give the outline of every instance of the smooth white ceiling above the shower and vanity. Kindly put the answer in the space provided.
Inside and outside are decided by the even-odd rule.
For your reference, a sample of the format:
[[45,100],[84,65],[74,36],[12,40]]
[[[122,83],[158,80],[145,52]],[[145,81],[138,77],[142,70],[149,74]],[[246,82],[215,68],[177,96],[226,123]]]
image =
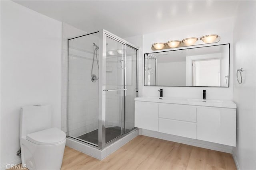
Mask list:
[[36,12],[86,32],[106,29],[126,38],[232,17],[233,0],[14,0]]

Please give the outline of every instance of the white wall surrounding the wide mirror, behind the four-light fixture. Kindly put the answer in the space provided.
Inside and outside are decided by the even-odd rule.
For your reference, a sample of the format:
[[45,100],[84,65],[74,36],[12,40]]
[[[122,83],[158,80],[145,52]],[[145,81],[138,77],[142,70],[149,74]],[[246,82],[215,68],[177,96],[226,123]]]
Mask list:
[[[218,34],[220,41],[212,45],[230,43],[230,70],[233,70],[233,18],[224,18],[217,21],[209,21],[208,23],[200,23],[195,25],[186,25],[184,27],[173,28],[165,31],[155,32],[143,35],[143,53],[156,52],[151,47],[156,42],[167,42],[170,40],[182,40],[187,37],[201,37],[208,34]],[[200,41],[198,41],[198,44]],[[198,45],[202,47],[206,45]],[[184,49],[184,47],[180,48]],[[159,50],[159,51],[168,51]],[[140,63],[140,67],[143,65]],[[143,72],[143,70],[141,70]],[[141,74],[141,73],[140,73]],[[161,87],[163,88],[164,97],[180,97],[180,98],[202,98],[202,90],[206,89],[207,99],[212,100],[232,100],[233,99],[233,72],[230,71],[230,87],[229,88],[206,88],[206,87]],[[160,87],[142,86],[143,96],[159,96],[157,91]]]

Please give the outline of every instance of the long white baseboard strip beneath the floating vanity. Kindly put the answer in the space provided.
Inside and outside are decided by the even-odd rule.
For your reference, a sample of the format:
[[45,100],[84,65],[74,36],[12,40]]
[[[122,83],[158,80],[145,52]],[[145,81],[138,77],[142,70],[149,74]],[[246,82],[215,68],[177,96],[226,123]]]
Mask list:
[[191,145],[194,147],[217,150],[217,151],[226,152],[226,153],[232,153],[232,148],[233,148],[228,145],[221,145],[218,143],[212,143],[212,142],[207,142],[207,141],[200,141],[197,139],[190,139],[190,138],[186,138],[186,137],[169,135],[166,133],[160,133],[160,132],[150,131],[150,130],[146,130],[146,129],[140,129],[140,134],[144,135],[144,136],[148,136],[148,137],[164,139],[166,141],[172,141],[172,142],[182,143],[182,144],[186,144],[186,145]]

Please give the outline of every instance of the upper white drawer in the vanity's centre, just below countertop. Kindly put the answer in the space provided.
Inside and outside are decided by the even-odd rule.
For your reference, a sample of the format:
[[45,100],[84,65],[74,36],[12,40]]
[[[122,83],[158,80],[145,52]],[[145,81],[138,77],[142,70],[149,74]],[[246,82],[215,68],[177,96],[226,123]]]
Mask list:
[[196,122],[196,107],[180,104],[159,104],[159,117]]

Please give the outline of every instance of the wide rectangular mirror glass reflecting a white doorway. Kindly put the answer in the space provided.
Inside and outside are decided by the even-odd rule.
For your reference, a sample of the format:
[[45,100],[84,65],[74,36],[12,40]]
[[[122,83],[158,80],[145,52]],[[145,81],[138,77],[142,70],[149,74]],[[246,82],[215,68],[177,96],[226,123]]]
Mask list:
[[144,86],[229,87],[230,44],[144,55]]

